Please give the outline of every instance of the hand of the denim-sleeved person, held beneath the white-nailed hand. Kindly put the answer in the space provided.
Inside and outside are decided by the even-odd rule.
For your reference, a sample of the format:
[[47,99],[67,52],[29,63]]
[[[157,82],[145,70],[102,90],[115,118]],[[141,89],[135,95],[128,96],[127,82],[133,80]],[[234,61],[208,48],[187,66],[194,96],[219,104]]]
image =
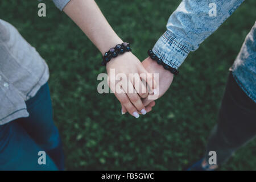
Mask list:
[[[172,74],[170,71],[163,68],[162,65],[159,65],[156,63],[156,61],[152,60],[150,57],[147,57],[142,62],[143,67],[147,70],[149,73],[158,73],[159,74],[159,80],[154,79],[156,82],[156,85],[158,85],[158,97],[154,100],[160,98],[163,96],[163,94],[168,90],[170,87],[172,80],[174,79],[174,74]],[[154,76],[154,74],[153,74]],[[143,105],[147,108],[147,112],[152,110],[152,106],[155,105],[154,100],[149,99],[149,97],[142,98]],[[123,113],[126,112],[124,108],[122,108]]]

